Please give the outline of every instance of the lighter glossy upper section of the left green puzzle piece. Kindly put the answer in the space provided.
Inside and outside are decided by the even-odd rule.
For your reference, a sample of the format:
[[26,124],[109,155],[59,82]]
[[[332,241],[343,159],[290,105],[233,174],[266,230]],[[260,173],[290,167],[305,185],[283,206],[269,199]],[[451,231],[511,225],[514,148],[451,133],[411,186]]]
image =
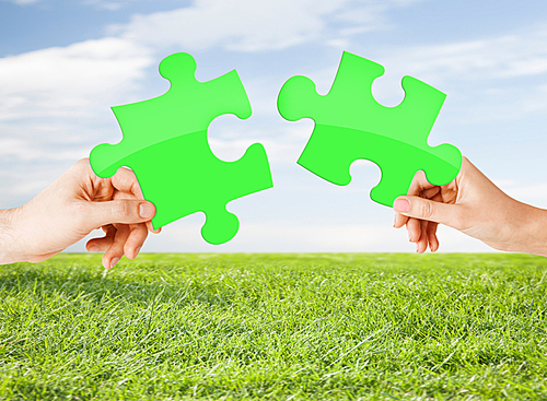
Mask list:
[[[171,82],[170,90],[158,97],[114,106],[112,110],[121,128],[124,139],[117,144],[100,144],[90,157],[93,170],[100,177],[112,177],[121,161],[154,143],[193,133],[207,131],[213,119],[233,114],[241,119],[251,117],[247,94],[235,70],[217,79],[199,82],[197,63],[189,54],[167,56],[160,63],[160,74]],[[127,134],[147,132],[153,138]],[[100,156],[97,156],[100,154]]]

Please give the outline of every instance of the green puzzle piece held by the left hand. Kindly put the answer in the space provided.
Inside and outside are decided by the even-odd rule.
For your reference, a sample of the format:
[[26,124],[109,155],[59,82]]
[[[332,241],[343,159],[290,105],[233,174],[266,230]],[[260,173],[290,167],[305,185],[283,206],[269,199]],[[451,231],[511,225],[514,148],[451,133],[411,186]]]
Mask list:
[[198,82],[196,68],[188,54],[166,57],[160,73],[171,81],[171,89],[149,101],[113,107],[124,139],[115,145],[94,148],[90,162],[103,178],[121,166],[135,172],[144,199],[156,207],[154,228],[203,212],[203,239],[223,244],[240,226],[237,217],[226,211],[226,203],[274,184],[259,143],[235,162],[214,156],[207,140],[210,122],[223,114],[248,118],[251,104],[235,70]]

